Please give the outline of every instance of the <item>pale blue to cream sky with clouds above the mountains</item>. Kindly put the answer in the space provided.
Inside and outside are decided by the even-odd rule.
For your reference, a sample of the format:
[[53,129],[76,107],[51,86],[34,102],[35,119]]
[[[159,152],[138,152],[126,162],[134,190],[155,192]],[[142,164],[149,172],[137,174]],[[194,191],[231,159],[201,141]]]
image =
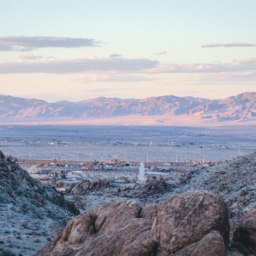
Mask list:
[[0,94],[47,102],[256,91],[255,0],[2,0]]

